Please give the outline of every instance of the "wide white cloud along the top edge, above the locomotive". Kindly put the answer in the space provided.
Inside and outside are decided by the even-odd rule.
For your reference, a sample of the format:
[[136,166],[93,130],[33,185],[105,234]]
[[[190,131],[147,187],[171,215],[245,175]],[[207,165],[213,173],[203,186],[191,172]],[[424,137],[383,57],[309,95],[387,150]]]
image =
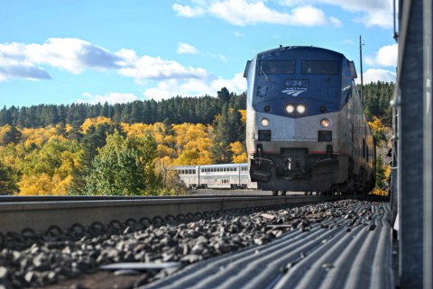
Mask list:
[[175,4],[172,8],[180,16],[196,17],[212,14],[239,26],[258,23],[318,26],[330,23],[341,27],[343,23],[340,20],[334,16],[326,16],[322,10],[315,7],[333,5],[354,14],[354,21],[366,27],[392,27],[392,0],[192,0],[191,2],[194,7]]

